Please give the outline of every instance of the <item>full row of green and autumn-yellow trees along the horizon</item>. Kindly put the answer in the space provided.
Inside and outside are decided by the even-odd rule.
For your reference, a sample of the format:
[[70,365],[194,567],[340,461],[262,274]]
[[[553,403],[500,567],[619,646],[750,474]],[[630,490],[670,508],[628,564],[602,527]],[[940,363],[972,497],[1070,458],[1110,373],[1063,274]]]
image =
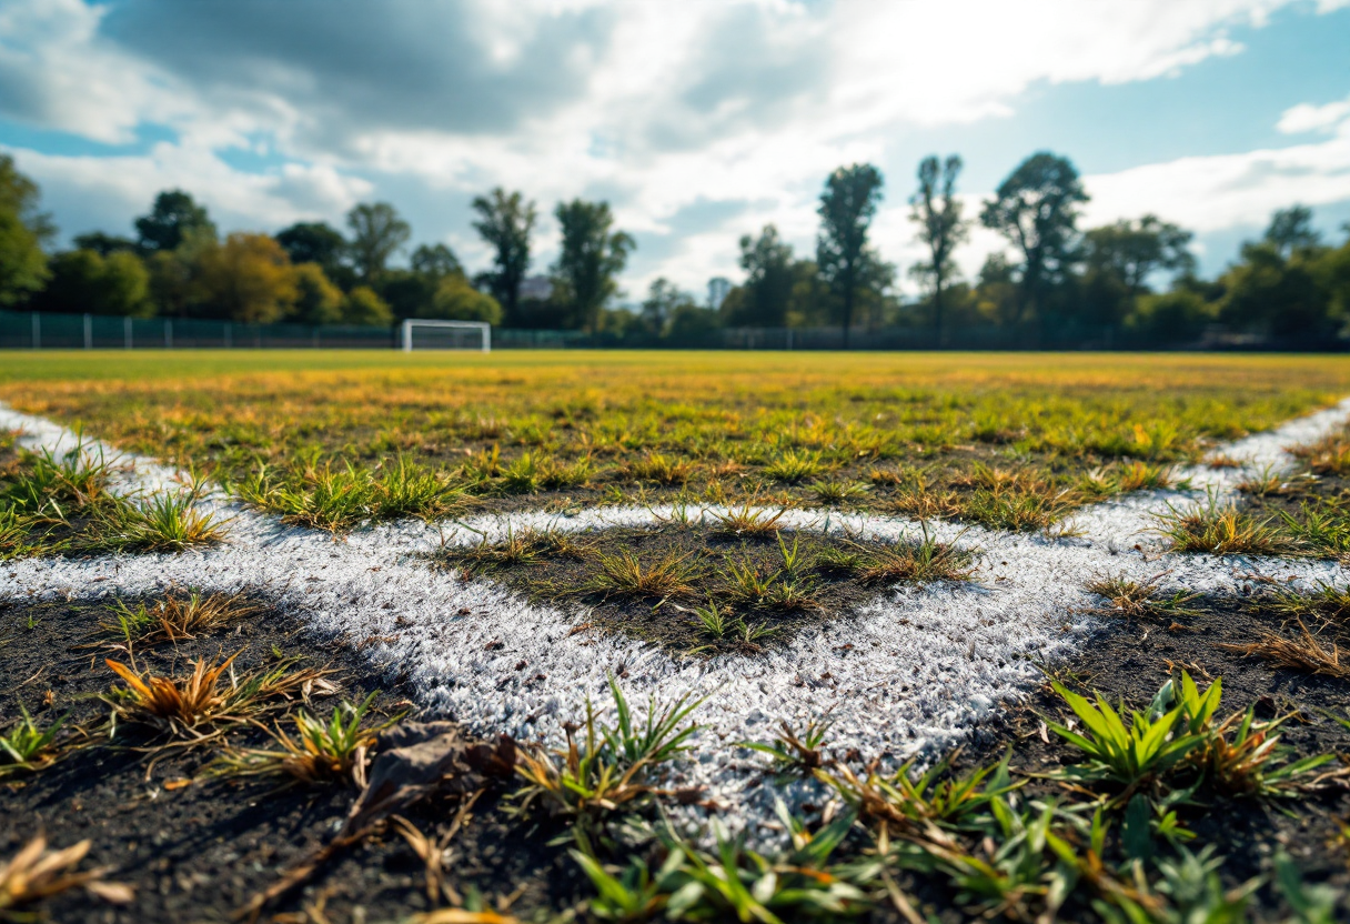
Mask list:
[[[412,228],[393,205],[363,203],[346,230],[301,222],[267,235],[221,236],[188,192],[159,193],[134,236],[74,238],[49,253],[55,228],[36,184],[0,155],[0,307],[244,323],[387,326],[405,317],[583,330],[613,338],[691,338],[718,327],[909,327],[936,342],[964,328],[1119,330],[1183,343],[1222,328],[1322,342],[1350,327],[1350,239],[1324,242],[1308,208],[1277,211],[1258,240],[1214,280],[1196,274],[1192,234],[1153,215],[1080,230],[1088,195],[1073,163],[1026,158],[975,216],[957,193],[961,158],[927,157],[909,197],[925,258],[909,267],[922,296],[902,300],[898,269],[869,239],[884,180],[841,166],[819,196],[815,253],[799,257],[778,228],[740,239],[738,285],[714,280],[707,300],[666,278],[636,305],[616,304],[636,249],[608,203],[554,209],[560,232],[547,273],[531,277],[536,203],[494,189],[473,200],[491,266],[470,276],[443,243],[408,251]],[[973,280],[954,255],[975,223],[1004,236]],[[1346,228],[1350,235],[1350,226]],[[392,265],[408,253],[406,266]],[[1350,331],[1347,331],[1350,332]]]

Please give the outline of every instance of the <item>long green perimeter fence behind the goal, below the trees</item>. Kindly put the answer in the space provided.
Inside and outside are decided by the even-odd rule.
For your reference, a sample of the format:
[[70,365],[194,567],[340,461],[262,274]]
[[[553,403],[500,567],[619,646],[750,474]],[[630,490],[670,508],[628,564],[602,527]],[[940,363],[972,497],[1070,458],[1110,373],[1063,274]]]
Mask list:
[[[240,324],[192,317],[109,317],[0,311],[3,350],[184,350],[398,347],[398,328],[354,324]],[[1292,350],[1341,353],[1347,342],[1256,338],[1210,328],[1200,338],[1158,340],[1114,327],[1044,324],[1031,328],[968,327],[945,331],[883,327],[720,328],[688,335],[586,334],[582,331],[493,330],[494,350]]]

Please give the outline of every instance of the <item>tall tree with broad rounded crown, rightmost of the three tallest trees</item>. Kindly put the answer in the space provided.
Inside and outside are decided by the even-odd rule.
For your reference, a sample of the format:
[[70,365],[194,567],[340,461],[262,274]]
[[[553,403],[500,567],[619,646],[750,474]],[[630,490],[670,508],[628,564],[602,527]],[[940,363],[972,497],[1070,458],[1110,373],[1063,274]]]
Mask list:
[[1014,323],[1022,322],[1027,305],[1045,301],[1050,284],[1072,263],[1077,207],[1085,201],[1083,181],[1068,158],[1041,151],[1025,159],[984,203],[980,222],[1013,242],[1022,255]]

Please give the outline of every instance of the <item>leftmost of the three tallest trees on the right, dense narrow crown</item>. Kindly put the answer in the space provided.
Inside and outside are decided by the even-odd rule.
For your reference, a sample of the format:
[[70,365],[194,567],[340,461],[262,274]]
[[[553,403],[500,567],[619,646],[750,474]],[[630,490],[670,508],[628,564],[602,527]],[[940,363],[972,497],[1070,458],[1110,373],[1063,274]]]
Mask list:
[[882,200],[882,172],[871,163],[838,168],[821,193],[821,232],[815,263],[842,305],[844,347],[848,349],[853,305],[867,255],[867,231]]

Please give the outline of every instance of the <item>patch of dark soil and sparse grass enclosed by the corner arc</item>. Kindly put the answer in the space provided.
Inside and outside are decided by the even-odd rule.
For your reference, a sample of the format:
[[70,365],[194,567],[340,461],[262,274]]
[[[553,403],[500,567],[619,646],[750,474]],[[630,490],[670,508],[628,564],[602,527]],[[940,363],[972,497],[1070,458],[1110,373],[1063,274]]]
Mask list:
[[575,605],[589,627],[675,654],[756,654],[886,588],[968,581],[976,554],[938,542],[926,525],[894,543],[845,539],[787,531],[780,513],[745,508],[655,530],[508,532],[495,543],[447,544],[433,561]]

